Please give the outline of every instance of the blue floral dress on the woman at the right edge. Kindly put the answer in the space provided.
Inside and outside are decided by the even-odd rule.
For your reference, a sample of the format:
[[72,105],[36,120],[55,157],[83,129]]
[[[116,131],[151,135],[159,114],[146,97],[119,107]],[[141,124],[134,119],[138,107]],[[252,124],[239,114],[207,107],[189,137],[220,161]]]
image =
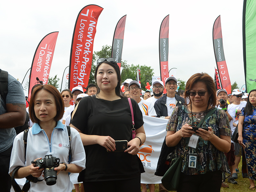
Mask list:
[[243,143],[245,144],[245,157],[249,178],[256,180],[256,108],[252,106],[252,115],[244,114],[242,108],[240,115],[244,116]]

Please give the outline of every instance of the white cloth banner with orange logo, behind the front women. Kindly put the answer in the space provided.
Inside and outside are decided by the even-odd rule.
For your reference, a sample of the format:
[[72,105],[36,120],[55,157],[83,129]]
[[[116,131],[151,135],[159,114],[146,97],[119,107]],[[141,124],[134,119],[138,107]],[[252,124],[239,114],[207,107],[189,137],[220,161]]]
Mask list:
[[161,183],[162,177],[156,176],[156,166],[164,137],[166,136],[166,125],[168,119],[156,118],[143,115],[146,141],[140,146],[137,154],[144,166],[145,173],[141,174],[141,183],[156,184]]

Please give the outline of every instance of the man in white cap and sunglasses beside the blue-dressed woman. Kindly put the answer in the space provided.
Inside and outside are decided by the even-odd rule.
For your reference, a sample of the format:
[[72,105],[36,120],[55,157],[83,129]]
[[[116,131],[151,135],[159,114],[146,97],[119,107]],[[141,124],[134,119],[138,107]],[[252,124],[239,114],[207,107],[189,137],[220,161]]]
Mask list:
[[[230,114],[230,116],[232,117],[232,120],[233,120],[233,126],[230,123],[230,128],[231,128],[232,134],[234,133],[234,131],[236,129],[236,125],[238,124],[238,117],[241,112],[241,109],[243,107],[245,107],[245,105],[247,103],[246,101],[242,101],[243,95],[244,94],[241,91],[241,89],[234,89],[232,91],[233,103],[228,105],[228,113]],[[232,122],[232,121],[230,121],[230,122]],[[237,173],[239,172],[238,164],[241,160],[241,155],[242,155],[242,153],[240,153],[241,148],[242,148],[241,145],[234,142],[236,160],[235,160],[235,165],[234,165],[235,167],[234,167],[233,171],[230,170],[231,172],[233,172],[232,176],[234,179],[237,179]],[[228,182],[229,182],[229,180],[228,180]]]

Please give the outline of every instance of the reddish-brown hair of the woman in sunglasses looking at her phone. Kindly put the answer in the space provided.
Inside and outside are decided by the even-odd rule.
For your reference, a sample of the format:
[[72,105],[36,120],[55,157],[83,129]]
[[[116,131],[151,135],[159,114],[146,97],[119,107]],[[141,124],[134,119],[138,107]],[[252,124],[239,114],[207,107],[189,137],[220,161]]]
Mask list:
[[186,88],[185,88],[185,100],[188,99],[189,100],[189,104],[191,104],[191,100],[189,97],[188,92],[190,91],[190,89],[194,86],[194,84],[196,84],[197,82],[203,82],[206,87],[207,87],[207,92],[209,94],[211,94],[209,100],[208,100],[208,105],[215,107],[216,106],[216,88],[215,88],[215,83],[212,79],[211,76],[209,76],[207,73],[196,73],[194,75],[192,75],[187,83],[186,83]]

